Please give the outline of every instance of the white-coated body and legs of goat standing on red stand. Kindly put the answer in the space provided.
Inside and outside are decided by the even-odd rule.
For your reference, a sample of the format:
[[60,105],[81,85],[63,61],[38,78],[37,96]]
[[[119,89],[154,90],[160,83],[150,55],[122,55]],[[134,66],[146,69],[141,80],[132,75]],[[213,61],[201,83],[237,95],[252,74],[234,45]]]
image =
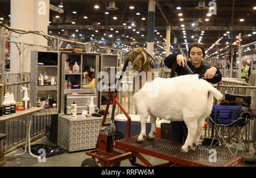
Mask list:
[[223,95],[199,75],[182,75],[175,78],[156,78],[147,82],[133,95],[134,104],[141,116],[141,133],[137,141],[146,137],[146,120],[150,116],[149,138],[156,136],[156,117],[171,121],[184,121],[188,136],[181,152],[195,150],[204,121],[210,115],[213,96],[217,100]]

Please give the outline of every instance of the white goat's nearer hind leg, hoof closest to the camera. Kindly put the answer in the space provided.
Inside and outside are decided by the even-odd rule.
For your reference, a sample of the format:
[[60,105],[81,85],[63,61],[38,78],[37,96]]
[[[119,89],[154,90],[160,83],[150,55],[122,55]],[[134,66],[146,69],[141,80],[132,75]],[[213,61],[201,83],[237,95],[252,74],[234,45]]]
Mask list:
[[[192,143],[195,139],[196,132],[197,132],[197,120],[194,120],[193,118],[189,119],[190,121],[185,121],[185,124],[188,128],[188,136],[184,143],[184,145],[181,147],[181,152],[188,152],[189,149],[192,149]],[[192,120],[192,121],[191,121]]]

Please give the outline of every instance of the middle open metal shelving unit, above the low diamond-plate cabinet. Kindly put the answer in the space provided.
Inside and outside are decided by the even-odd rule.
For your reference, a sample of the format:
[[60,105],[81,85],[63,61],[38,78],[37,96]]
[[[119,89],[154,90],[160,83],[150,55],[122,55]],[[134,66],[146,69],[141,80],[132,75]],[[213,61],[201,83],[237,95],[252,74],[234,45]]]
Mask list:
[[[94,105],[98,107],[98,90],[97,90],[97,75],[99,72],[99,61],[100,61],[100,53],[71,53],[71,52],[61,52],[61,90],[60,90],[60,113],[68,114],[70,103],[67,103],[67,98],[71,96],[73,93],[83,95],[84,101],[78,101],[77,108],[84,108],[88,102],[88,96],[93,96]],[[77,61],[79,65],[79,73],[73,73],[72,71],[68,71],[69,68],[67,65],[67,60],[69,63],[73,64]],[[72,66],[70,66],[72,69]],[[90,74],[90,78],[95,79],[95,88],[82,88],[82,78],[84,71],[88,71]],[[67,83],[72,83],[72,88],[67,88]],[[77,86],[79,88],[73,88],[73,86]],[[74,99],[76,101],[76,99]],[[81,111],[77,112],[80,113]]]

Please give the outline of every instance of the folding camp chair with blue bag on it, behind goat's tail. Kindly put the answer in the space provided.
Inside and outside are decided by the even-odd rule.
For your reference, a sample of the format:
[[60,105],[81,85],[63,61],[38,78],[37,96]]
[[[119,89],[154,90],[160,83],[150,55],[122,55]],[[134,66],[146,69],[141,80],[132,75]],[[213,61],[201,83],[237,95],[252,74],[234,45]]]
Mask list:
[[[224,100],[230,101],[230,103],[233,103],[233,104],[235,103],[244,104],[247,107],[250,107],[251,96],[225,94]],[[215,116],[216,116],[216,113],[215,113]],[[251,121],[250,112],[246,111],[245,109],[245,112],[241,112],[240,115],[237,115],[237,118],[232,121],[216,120],[216,117],[214,117],[213,112],[210,116],[208,116],[208,118],[214,128],[214,131],[216,132],[216,134],[214,134],[212,142],[210,143],[210,148],[217,145],[218,142],[215,142],[213,145],[214,138],[216,138],[217,136],[217,139],[219,139],[219,141],[221,142],[221,145],[227,146],[232,155],[237,154],[237,151],[240,145],[242,145],[245,151],[249,152],[249,135],[248,134],[250,133],[250,121]],[[248,129],[249,129],[249,132],[248,132]],[[228,141],[225,141],[224,139],[226,135],[229,136]],[[236,152],[234,154],[230,149],[230,146],[228,145],[229,141],[231,141],[232,138],[236,138],[238,142]]]

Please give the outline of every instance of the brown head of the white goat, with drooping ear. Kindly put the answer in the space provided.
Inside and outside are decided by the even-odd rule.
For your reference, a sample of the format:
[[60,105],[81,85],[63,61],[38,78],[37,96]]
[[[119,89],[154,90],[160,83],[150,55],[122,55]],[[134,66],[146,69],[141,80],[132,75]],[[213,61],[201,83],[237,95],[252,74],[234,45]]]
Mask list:
[[135,48],[133,50],[130,50],[130,52],[126,54],[127,54],[127,59],[133,63],[133,69],[132,69],[133,72],[141,71],[142,66],[144,65],[148,65],[151,69],[152,62],[150,58],[152,58],[152,60],[154,60],[154,58],[151,56],[151,54],[147,53],[146,49]]

